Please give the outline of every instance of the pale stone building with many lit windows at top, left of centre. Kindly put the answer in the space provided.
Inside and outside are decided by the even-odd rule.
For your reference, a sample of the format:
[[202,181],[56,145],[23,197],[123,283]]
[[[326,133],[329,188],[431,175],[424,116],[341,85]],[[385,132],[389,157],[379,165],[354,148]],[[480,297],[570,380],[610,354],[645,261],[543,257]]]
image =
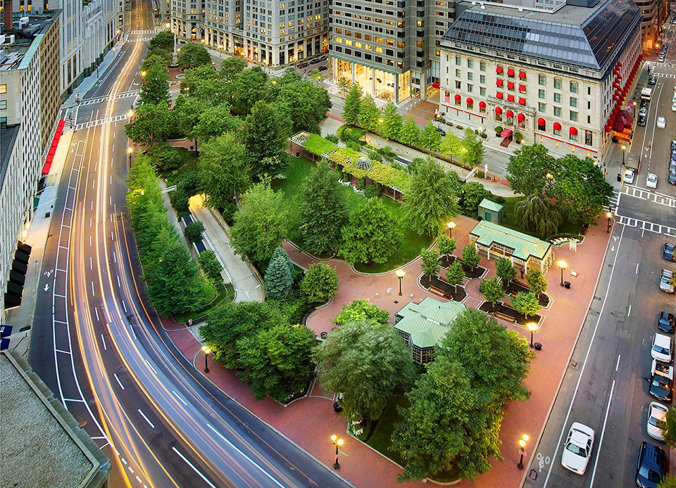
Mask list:
[[327,52],[328,15],[328,0],[172,0],[172,31],[274,69]]

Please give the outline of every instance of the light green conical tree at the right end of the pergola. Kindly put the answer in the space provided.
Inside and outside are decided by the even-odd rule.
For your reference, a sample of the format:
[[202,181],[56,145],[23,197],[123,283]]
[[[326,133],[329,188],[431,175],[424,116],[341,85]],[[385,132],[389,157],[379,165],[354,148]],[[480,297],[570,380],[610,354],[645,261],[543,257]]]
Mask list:
[[458,202],[451,180],[431,157],[416,166],[408,191],[404,192],[403,212],[408,226],[417,233],[439,234],[445,223],[458,214]]

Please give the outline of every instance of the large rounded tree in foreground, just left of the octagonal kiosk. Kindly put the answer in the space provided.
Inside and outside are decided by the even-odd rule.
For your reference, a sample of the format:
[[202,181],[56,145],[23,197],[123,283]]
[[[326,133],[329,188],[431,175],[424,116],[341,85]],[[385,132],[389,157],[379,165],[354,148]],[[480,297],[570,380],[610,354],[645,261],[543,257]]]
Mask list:
[[334,329],[315,353],[320,385],[340,401],[349,420],[368,423],[382,415],[397,388],[413,382],[413,360],[391,326],[373,321]]

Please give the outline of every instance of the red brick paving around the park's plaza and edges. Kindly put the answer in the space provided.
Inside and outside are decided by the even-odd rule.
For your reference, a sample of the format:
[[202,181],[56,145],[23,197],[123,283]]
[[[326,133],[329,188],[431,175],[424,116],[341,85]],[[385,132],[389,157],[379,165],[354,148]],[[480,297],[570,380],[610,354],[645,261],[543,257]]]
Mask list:
[[[462,248],[468,244],[468,232],[476,222],[465,217],[458,217],[456,224],[453,230],[453,238],[457,243],[455,254],[460,255]],[[530,374],[525,380],[525,385],[532,392],[530,400],[525,403],[506,404],[506,415],[500,432],[503,443],[501,453],[504,461],[494,461],[492,470],[480,475],[476,482],[463,481],[456,486],[513,488],[518,487],[522,477],[527,474],[516,467],[519,461],[517,442],[524,433],[531,437],[526,447],[528,452],[524,460],[525,465],[528,465],[530,456],[533,454],[530,448],[537,445],[537,438],[542,433],[558,385],[568,364],[572,347],[594,295],[608,237],[611,235],[606,233],[605,229],[605,218],[599,219],[597,225],[587,230],[584,243],[578,245],[577,252],[569,250],[568,246],[555,250],[555,262],[558,259],[568,262],[564,279],[570,281],[572,287],[567,290],[560,286],[561,271],[556,265],[546,274],[549,281],[547,294],[551,297],[551,304],[548,309],[542,309],[539,312],[543,319],[540,323],[541,328],[536,333],[536,340],[542,342],[543,349],[537,352],[537,358],[532,362]],[[298,252],[289,243],[285,243],[284,248],[289,252],[292,260],[301,267],[308,267],[309,264],[315,262],[313,257]],[[399,283],[394,271],[365,275],[357,273],[343,261],[330,259],[327,262],[337,270],[340,288],[330,304],[313,312],[308,318],[308,327],[318,334],[331,330],[331,321],[342,305],[358,298],[368,298],[382,309],[386,309],[392,321],[394,321],[394,312],[410,300],[418,302],[426,296],[443,300],[437,295],[427,293],[418,285],[418,277],[422,274],[420,259],[415,259],[403,267],[406,276],[402,283],[402,297],[398,295]],[[493,261],[482,259],[480,264],[489,270],[484,278],[494,275]],[[577,272],[576,277],[570,274],[572,270]],[[479,281],[475,279],[467,283],[468,297],[464,302],[469,307],[477,307],[483,300],[477,291]],[[388,288],[391,288],[389,295]],[[412,298],[411,295],[413,295]],[[530,340],[530,334],[522,327],[511,323],[505,323],[505,325],[517,330]],[[187,358],[192,361],[204,361],[200,352],[201,345],[189,330],[177,328],[170,332],[170,336]],[[201,364],[201,362],[196,364]],[[396,476],[401,473],[401,468],[365,444],[346,436],[344,433],[346,422],[332,409],[334,400],[325,397],[318,385],[312,385],[308,397],[284,407],[269,398],[257,402],[251,396],[247,385],[240,383],[232,371],[218,364],[210,366],[207,376],[227,395],[327,466],[331,466],[334,461],[330,435],[334,433],[343,435],[346,438],[344,451],[349,458],[342,459],[339,474],[355,486],[396,486]],[[404,486],[423,486],[423,484],[408,482]]]

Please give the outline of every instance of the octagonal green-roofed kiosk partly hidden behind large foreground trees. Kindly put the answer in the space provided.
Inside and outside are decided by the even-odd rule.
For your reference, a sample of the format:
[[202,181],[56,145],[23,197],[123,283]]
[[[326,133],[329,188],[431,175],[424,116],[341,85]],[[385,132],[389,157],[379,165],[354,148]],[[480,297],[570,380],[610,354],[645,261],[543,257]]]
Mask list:
[[458,302],[425,297],[420,303],[408,302],[396,312],[394,328],[406,341],[413,360],[428,363],[434,359],[434,347],[442,342],[448,326],[465,310]]

